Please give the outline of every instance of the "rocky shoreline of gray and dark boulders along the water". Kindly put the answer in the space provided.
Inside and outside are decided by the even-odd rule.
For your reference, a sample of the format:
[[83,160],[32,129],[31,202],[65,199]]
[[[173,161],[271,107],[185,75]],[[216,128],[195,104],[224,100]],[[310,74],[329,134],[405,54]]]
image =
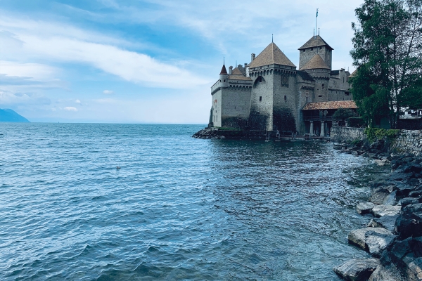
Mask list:
[[371,183],[369,202],[356,207],[358,214],[371,216],[368,225],[347,237],[373,258],[351,259],[335,266],[334,272],[351,281],[422,280],[422,155],[392,155],[387,140],[333,148],[391,166],[388,178]]

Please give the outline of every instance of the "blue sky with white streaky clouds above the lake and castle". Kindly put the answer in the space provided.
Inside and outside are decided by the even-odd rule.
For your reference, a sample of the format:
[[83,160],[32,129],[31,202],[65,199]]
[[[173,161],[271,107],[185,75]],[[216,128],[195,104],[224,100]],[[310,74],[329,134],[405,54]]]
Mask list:
[[313,36],[350,72],[363,0],[0,0],[0,108],[31,122],[207,124],[226,66]]

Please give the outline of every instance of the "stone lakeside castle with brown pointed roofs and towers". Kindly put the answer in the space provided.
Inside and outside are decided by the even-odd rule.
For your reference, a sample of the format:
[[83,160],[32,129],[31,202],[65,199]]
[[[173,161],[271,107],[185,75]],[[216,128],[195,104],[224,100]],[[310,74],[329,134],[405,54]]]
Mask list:
[[211,87],[209,126],[326,136],[335,110],[357,108],[350,73],[331,70],[333,48],[319,35],[298,50],[299,70],[274,42],[249,64],[229,72],[223,64]]

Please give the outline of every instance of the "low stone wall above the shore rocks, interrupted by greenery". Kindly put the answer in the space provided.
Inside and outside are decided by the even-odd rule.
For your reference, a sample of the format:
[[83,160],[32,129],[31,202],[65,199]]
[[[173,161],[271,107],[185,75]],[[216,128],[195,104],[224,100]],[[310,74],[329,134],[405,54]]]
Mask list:
[[[332,127],[331,140],[336,143],[350,143],[352,141],[364,141],[363,128],[349,128],[349,127]],[[395,138],[390,144],[390,151],[395,153],[413,153],[414,155],[421,154],[422,151],[422,131],[402,130],[399,136]]]

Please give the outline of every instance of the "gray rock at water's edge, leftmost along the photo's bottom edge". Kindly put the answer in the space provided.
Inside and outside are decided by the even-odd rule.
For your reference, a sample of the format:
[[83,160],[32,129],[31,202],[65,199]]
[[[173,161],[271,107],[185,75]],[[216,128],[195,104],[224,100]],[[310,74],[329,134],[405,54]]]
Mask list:
[[345,280],[364,281],[380,266],[378,259],[351,259],[333,268],[334,272]]

